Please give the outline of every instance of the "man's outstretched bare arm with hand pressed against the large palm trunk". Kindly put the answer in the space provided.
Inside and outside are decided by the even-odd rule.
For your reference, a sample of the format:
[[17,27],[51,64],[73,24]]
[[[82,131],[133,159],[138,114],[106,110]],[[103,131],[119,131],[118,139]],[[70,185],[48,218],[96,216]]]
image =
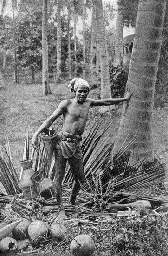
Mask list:
[[123,101],[129,101],[133,92],[130,91],[128,88],[125,92],[125,97],[124,98],[108,98],[108,99],[102,99],[102,100],[92,100],[92,103],[90,106],[110,106],[110,105],[115,105],[118,103],[121,103]]

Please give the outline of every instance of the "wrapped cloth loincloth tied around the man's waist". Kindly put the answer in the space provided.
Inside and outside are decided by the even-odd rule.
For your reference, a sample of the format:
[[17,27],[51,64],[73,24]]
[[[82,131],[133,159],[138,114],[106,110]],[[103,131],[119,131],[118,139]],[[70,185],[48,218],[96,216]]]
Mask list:
[[58,133],[58,141],[56,149],[62,150],[62,154],[65,159],[75,157],[77,159],[82,158],[82,150],[80,146],[82,137],[80,135],[73,135],[65,131]]

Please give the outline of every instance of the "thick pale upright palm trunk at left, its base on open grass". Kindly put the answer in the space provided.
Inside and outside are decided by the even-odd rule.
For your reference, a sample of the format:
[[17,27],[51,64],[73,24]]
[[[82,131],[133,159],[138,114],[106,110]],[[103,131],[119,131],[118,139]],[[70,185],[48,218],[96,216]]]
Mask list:
[[51,94],[48,74],[48,40],[47,40],[47,0],[43,0],[42,7],[42,83],[43,94]]

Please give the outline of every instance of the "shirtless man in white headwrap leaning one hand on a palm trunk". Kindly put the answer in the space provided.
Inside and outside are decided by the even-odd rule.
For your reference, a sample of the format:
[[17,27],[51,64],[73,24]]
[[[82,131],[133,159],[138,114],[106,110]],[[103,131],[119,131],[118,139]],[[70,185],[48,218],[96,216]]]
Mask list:
[[[83,158],[80,147],[81,135],[84,132],[88,118],[89,108],[91,106],[110,106],[123,101],[129,101],[132,93],[128,89],[125,97],[120,99],[103,99],[94,100],[87,98],[89,94],[89,84],[81,78],[71,80],[69,87],[75,92],[75,98],[61,101],[58,108],[53,114],[40,126],[32,137],[32,145],[38,147],[38,135],[45,129],[49,128],[52,123],[63,115],[63,128],[58,134],[58,142],[55,146],[55,184],[57,189],[56,199],[58,206],[62,205],[62,180],[65,175],[66,162],[68,161],[75,182],[72,187],[70,204],[75,204],[76,196],[80,190],[80,183],[85,181],[83,170]],[[59,212],[60,219],[64,219],[65,212],[63,207]]]

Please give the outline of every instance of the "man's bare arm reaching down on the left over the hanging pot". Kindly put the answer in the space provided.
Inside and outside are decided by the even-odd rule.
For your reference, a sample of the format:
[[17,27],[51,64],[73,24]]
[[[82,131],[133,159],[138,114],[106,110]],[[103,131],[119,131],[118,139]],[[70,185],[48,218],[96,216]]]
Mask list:
[[43,123],[42,125],[39,127],[39,129],[34,133],[34,135],[32,136],[32,145],[34,148],[38,147],[38,135],[45,130],[46,128],[49,128],[52,123],[60,116],[64,113],[64,110],[66,108],[66,100],[61,101],[61,103],[58,105],[58,108],[56,108],[56,110],[52,113],[51,116],[49,116]]

